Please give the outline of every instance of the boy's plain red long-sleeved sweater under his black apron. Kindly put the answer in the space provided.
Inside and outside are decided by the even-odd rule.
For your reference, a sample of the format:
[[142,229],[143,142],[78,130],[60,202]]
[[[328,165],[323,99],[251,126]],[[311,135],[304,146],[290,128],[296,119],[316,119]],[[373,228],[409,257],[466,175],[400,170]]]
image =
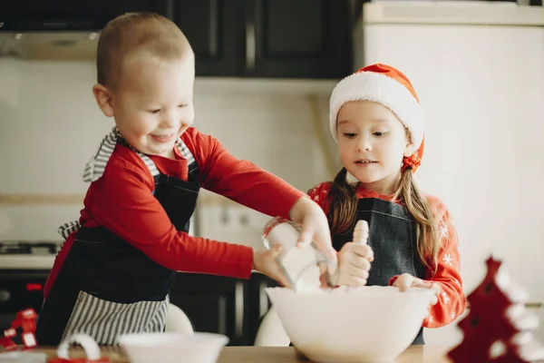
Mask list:
[[[302,191],[241,161],[212,136],[189,128],[181,135],[199,164],[201,187],[271,216],[288,218]],[[161,173],[188,180],[188,163],[174,148],[176,159],[150,156]],[[117,145],[102,177],[92,182],[81,211],[85,227],[104,226],[152,260],[170,270],[248,278],[253,249],[248,246],[192,237],[177,231],[152,194],[154,180],[141,158]],[[70,250],[75,233],[66,239],[44,287],[47,297]],[[242,241],[233,241],[242,242]],[[137,267],[135,267],[137,268]]]

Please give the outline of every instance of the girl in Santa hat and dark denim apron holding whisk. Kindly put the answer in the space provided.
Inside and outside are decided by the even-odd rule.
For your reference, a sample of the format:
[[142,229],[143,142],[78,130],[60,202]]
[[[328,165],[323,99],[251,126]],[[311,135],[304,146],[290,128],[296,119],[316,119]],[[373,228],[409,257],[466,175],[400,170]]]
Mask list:
[[[459,245],[446,206],[413,179],[423,156],[423,111],[412,83],[392,66],[366,66],[335,86],[329,116],[344,167],[308,194],[327,214],[338,284],[437,289],[423,327],[451,323],[466,305]],[[350,242],[361,219],[372,250]],[[424,343],[423,329],[413,343]]]

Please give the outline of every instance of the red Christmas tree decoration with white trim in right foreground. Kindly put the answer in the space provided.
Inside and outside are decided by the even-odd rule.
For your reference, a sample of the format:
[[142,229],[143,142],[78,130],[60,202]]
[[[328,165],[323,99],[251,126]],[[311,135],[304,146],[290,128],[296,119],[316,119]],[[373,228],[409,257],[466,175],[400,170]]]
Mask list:
[[525,311],[525,290],[516,286],[501,261],[486,260],[487,275],[467,297],[470,313],[458,326],[460,345],[448,353],[455,363],[521,363],[544,358],[530,330],[539,320]]

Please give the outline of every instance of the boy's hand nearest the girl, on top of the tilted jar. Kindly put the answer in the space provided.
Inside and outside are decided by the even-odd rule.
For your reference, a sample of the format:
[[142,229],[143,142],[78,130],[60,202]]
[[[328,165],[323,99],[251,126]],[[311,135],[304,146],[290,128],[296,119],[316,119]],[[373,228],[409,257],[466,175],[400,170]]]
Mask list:
[[325,257],[333,262],[329,266],[335,266],[337,263],[336,251],[333,249],[331,231],[328,221],[326,221],[325,212],[321,207],[315,201],[301,197],[289,211],[289,217],[291,221],[302,225],[297,245],[303,246],[313,241]]

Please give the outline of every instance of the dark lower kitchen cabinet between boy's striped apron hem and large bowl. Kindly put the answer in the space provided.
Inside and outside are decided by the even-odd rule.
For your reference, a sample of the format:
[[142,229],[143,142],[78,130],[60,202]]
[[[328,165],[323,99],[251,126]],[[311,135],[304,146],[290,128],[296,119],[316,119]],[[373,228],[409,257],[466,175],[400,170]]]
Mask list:
[[260,317],[270,307],[268,286],[277,282],[260,273],[244,280],[180,272],[170,302],[183,310],[195,331],[224,334],[229,346],[253,345]]

